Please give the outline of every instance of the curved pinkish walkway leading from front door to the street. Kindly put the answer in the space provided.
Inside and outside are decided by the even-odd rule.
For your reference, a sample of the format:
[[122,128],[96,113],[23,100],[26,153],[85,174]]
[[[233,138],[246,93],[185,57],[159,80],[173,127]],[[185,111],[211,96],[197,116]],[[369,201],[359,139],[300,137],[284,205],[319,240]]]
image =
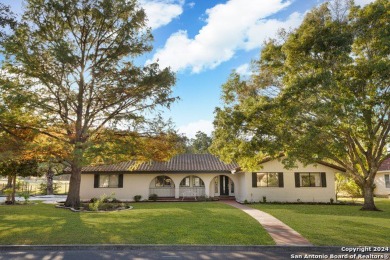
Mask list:
[[271,235],[276,245],[279,246],[311,246],[312,244],[294,229],[284,224],[279,219],[261,210],[242,205],[233,200],[221,201],[232,207],[241,209],[252,218],[256,219]]

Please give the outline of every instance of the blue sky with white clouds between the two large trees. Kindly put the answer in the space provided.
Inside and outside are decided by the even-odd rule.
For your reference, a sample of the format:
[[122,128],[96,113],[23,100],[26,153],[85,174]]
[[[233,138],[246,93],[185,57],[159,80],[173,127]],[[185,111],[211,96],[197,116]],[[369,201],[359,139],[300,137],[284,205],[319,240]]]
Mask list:
[[[179,96],[164,117],[193,138],[211,134],[214,110],[222,106],[221,86],[233,71],[250,75],[262,44],[281,28],[299,26],[306,12],[325,0],[140,0],[154,36],[142,62],[171,67]],[[365,5],[373,0],[355,0]],[[22,13],[22,0],[0,0]]]

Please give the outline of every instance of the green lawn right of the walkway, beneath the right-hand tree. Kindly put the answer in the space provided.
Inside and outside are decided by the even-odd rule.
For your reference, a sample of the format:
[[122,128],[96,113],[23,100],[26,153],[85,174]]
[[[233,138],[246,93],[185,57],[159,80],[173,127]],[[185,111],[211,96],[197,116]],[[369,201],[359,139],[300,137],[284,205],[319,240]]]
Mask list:
[[361,206],[255,204],[280,219],[314,245],[390,246],[390,200],[376,199],[380,212]]

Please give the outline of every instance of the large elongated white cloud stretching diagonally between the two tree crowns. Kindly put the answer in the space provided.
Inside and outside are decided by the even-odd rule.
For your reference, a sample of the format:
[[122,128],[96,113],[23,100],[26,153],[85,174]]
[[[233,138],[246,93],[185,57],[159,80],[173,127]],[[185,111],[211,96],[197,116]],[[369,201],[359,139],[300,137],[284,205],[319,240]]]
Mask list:
[[[239,50],[259,48],[280,27],[294,27],[301,15],[295,13],[285,21],[267,20],[290,5],[284,0],[229,0],[206,10],[206,25],[194,38],[187,31],[172,34],[152,60],[175,71],[191,69],[199,73],[230,60]],[[147,61],[148,63],[151,60]]]

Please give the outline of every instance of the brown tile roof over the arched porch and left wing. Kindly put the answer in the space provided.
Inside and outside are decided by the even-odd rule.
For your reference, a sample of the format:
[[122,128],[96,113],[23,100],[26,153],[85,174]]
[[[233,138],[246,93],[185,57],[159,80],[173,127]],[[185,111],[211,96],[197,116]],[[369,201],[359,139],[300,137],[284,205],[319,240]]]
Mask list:
[[[132,169],[134,168],[134,169]],[[83,167],[82,172],[231,172],[238,164],[226,164],[211,154],[181,154],[167,162],[144,162],[135,166],[134,161],[111,165]]]

